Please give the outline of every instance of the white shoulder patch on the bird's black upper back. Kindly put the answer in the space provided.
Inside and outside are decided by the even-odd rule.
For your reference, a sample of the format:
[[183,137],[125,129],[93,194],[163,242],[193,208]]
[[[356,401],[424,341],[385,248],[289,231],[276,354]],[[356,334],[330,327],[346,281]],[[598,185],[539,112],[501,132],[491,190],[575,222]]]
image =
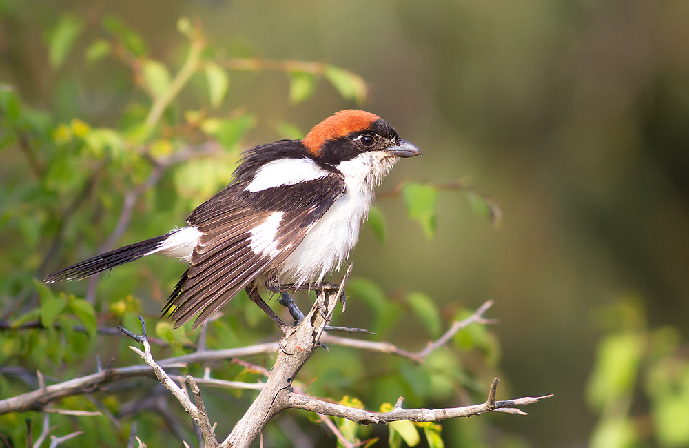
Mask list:
[[260,192],[267,188],[314,181],[328,174],[311,159],[278,159],[260,167],[244,191]]

